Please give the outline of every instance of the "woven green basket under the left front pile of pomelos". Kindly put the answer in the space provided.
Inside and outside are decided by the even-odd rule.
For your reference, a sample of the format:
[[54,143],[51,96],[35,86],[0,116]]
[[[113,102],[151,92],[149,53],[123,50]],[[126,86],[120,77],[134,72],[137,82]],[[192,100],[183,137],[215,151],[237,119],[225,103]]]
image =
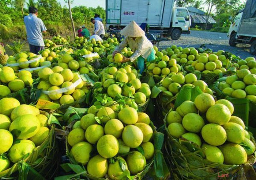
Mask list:
[[[52,179],[57,172],[59,160],[57,141],[55,138],[55,123],[57,119],[44,111],[40,114],[48,116],[48,127],[50,129],[45,141],[34,148],[31,154],[26,154],[22,160],[12,167],[0,172],[0,179]],[[58,124],[58,123],[57,123]]]

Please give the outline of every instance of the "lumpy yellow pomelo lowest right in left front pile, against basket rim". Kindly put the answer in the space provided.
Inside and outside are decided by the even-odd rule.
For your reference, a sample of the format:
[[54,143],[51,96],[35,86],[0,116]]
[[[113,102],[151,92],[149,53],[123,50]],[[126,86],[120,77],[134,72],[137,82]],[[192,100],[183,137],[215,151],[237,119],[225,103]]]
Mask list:
[[12,163],[18,163],[26,154],[31,154],[35,148],[35,144],[30,140],[15,140],[11,146],[8,157]]

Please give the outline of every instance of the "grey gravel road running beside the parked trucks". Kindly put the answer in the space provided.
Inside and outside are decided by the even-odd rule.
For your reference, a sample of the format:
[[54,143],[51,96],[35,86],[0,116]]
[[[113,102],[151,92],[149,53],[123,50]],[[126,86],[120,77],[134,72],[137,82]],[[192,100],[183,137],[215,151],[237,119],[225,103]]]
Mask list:
[[[178,40],[167,39],[159,43],[159,47],[166,48],[176,44],[182,47],[199,47],[205,44],[206,48],[211,48],[213,51],[224,50],[229,51],[241,58],[245,59],[252,56],[249,53],[249,44],[238,44],[237,47],[229,46],[229,38],[226,33],[208,32],[208,31],[191,31],[191,34],[182,34]],[[254,56],[256,58],[256,56]]]

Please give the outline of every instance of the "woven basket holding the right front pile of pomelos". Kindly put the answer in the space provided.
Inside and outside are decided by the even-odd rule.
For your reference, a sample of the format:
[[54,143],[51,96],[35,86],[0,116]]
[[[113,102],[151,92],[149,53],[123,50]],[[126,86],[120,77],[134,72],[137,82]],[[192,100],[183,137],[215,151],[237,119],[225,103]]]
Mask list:
[[[172,109],[170,110],[172,111]],[[252,165],[256,162],[256,153],[248,156],[248,161],[243,165],[226,165],[213,163],[204,159],[200,154],[203,149],[195,148],[192,142],[188,142],[195,152],[191,152],[184,145],[181,145],[176,137],[173,137],[167,129],[166,117],[165,134],[167,135],[163,153],[171,175],[174,180],[216,180],[216,179],[256,179],[256,173]],[[256,145],[251,135],[251,141]]]

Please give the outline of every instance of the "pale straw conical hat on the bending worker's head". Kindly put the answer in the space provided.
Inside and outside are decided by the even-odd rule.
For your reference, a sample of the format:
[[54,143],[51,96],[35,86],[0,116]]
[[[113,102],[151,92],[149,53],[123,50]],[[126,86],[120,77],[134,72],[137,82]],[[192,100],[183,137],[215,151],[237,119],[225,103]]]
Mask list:
[[139,27],[135,21],[131,21],[130,24],[125,26],[122,31],[120,31],[121,35],[129,36],[129,37],[141,37],[145,35],[145,32],[142,28]]

